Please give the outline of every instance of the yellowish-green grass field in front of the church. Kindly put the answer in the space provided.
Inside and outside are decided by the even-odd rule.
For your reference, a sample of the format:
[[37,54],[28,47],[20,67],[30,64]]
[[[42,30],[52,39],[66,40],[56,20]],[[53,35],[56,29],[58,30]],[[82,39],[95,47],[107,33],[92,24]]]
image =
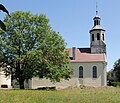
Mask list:
[[120,88],[0,90],[0,103],[120,103]]

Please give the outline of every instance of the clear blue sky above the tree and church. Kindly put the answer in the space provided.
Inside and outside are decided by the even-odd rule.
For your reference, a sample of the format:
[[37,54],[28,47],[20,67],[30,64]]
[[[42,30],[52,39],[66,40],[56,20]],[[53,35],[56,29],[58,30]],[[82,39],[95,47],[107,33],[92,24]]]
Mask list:
[[[93,27],[96,2],[101,26],[106,30],[107,70],[110,70],[120,58],[120,0],[0,0],[10,13],[19,10],[45,14],[67,48],[90,47],[89,30]],[[5,13],[0,15],[3,20]]]

